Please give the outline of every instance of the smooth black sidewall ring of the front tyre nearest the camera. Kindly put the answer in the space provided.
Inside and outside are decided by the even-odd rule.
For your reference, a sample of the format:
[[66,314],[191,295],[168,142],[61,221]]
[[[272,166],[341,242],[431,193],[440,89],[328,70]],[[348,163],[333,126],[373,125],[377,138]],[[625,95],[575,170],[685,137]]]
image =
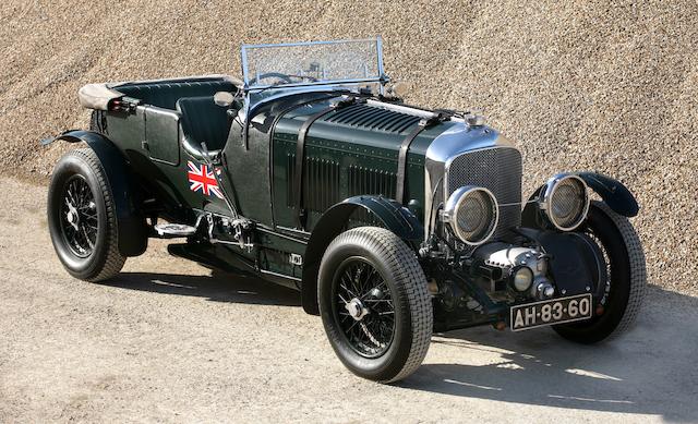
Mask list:
[[[381,356],[369,359],[357,353],[347,342],[333,316],[332,295],[335,272],[339,265],[351,256],[368,261],[383,277],[390,290],[395,305],[395,334],[388,350]],[[332,244],[324,255],[320,268],[318,301],[321,316],[327,338],[339,360],[352,373],[372,380],[390,380],[398,375],[407,362],[411,342],[411,312],[405,288],[395,279],[392,270],[382,257],[364,245],[353,243]]]

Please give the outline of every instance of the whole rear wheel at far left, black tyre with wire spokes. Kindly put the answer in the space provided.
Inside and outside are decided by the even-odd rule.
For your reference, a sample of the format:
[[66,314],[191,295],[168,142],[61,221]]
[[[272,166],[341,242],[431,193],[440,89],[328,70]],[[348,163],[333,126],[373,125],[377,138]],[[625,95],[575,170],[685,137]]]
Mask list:
[[101,281],[123,267],[111,189],[91,148],[71,150],[56,165],[48,228],[58,257],[73,277]]

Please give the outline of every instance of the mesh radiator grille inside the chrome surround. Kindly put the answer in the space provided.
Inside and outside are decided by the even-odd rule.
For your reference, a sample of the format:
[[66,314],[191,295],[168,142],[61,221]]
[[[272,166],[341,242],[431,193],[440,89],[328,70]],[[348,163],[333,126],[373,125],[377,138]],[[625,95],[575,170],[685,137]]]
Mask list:
[[521,225],[521,154],[515,148],[467,153],[456,157],[447,170],[447,194],[464,185],[489,189],[500,204],[497,238]]

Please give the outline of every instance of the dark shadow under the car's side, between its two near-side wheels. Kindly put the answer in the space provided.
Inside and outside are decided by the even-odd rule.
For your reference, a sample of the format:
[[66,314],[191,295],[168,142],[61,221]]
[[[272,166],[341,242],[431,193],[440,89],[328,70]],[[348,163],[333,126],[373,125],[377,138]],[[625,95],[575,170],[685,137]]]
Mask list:
[[214,302],[300,306],[298,291],[245,275],[213,270],[210,275],[121,272],[103,286],[163,294],[206,298]]

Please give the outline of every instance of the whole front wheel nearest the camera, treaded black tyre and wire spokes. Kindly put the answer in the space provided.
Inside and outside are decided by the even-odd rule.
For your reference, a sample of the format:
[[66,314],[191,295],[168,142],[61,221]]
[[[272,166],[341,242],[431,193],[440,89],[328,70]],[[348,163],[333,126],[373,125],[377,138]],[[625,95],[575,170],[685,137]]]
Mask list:
[[323,256],[317,298],[327,338],[354,374],[390,383],[421,365],[433,329],[426,278],[414,252],[390,231],[339,234]]

